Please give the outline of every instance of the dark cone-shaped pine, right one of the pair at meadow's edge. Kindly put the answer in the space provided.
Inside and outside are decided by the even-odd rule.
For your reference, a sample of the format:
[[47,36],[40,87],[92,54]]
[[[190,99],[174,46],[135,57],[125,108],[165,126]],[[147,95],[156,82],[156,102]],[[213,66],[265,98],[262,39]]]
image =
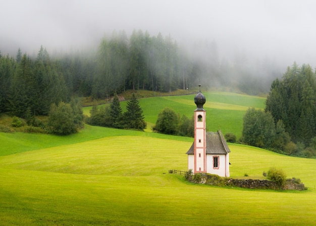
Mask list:
[[134,93],[131,100],[127,102],[126,110],[124,112],[125,128],[144,130],[147,124],[144,121],[143,111]]

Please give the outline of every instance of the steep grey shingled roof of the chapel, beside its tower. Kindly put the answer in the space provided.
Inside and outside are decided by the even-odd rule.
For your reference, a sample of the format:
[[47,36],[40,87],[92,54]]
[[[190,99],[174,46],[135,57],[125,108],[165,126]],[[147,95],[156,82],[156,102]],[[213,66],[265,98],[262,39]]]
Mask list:
[[[230,152],[221,130],[206,132],[206,154],[227,154]],[[186,154],[194,154],[194,142]]]

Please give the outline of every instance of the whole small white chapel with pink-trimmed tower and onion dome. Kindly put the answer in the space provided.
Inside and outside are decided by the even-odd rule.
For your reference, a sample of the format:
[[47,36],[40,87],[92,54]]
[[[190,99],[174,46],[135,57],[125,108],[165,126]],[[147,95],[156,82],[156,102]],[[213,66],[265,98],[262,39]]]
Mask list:
[[[199,84],[199,86],[201,86]],[[188,170],[229,177],[229,147],[221,130],[206,132],[206,99],[200,91],[194,97],[194,142],[187,151]]]

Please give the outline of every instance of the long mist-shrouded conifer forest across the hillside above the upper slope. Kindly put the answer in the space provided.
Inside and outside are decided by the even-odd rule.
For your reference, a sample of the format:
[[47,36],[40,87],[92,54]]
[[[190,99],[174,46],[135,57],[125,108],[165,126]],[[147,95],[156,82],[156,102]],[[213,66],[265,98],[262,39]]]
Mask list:
[[[241,60],[240,60],[241,59]],[[127,89],[171,92],[190,88],[199,81],[205,87],[234,86],[254,94],[265,92],[267,83],[258,77],[276,77],[269,60],[251,69],[244,57],[220,60],[216,42],[197,42],[188,50],[171,35],[151,36],[134,30],[104,36],[97,50],[51,57],[40,47],[36,57],[0,52],[0,112],[25,117],[29,107],[35,115],[47,115],[50,105],[68,103],[73,96],[105,99]],[[268,79],[269,80],[269,79]]]

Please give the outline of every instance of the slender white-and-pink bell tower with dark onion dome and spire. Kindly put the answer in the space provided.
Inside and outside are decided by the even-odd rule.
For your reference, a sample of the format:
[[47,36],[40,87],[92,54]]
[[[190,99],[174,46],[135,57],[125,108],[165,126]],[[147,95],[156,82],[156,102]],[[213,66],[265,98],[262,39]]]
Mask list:
[[206,122],[203,105],[205,97],[201,93],[201,84],[199,92],[194,97],[196,109],[194,110],[194,173],[206,173]]

